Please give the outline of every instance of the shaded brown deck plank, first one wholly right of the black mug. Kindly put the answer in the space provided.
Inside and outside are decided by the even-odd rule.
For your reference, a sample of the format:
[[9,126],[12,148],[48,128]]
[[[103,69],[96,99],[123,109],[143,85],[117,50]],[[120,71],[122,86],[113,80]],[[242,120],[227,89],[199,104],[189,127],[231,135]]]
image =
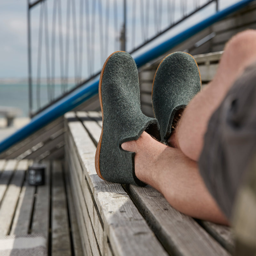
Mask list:
[[52,166],[52,256],[71,254],[66,195],[60,161]]

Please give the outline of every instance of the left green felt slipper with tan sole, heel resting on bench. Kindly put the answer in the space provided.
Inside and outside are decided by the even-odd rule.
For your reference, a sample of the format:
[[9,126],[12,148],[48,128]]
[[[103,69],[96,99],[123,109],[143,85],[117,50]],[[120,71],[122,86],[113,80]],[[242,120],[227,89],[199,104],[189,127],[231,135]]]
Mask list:
[[95,155],[100,178],[116,183],[145,185],[134,172],[134,152],[121,144],[139,139],[143,131],[160,139],[157,120],[140,109],[138,70],[127,52],[114,52],[106,60],[100,75],[99,98],[102,130]]

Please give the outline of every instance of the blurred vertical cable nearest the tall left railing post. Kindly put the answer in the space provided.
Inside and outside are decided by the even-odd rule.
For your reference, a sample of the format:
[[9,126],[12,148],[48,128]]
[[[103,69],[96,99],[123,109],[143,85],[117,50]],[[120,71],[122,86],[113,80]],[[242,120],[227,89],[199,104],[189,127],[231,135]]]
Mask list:
[[42,36],[43,36],[43,3],[40,4],[39,33],[38,33],[38,52],[37,52],[37,78],[36,78],[36,104],[41,107],[40,101],[40,82],[41,82],[41,57],[42,57]]

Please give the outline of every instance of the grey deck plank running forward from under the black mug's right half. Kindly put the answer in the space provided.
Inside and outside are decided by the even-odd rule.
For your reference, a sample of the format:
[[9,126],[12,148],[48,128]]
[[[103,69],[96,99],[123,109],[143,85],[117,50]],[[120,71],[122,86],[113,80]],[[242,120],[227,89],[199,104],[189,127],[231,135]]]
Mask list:
[[45,185],[38,186],[33,213],[31,234],[41,234],[47,239],[49,237],[49,215],[50,215],[50,163],[45,162]]

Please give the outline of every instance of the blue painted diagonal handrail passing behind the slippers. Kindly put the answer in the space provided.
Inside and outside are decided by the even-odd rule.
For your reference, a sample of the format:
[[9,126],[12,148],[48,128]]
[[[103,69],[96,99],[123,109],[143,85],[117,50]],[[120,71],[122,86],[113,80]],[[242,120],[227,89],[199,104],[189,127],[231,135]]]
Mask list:
[[[204,28],[211,26],[214,22],[217,22],[227,15],[236,12],[237,10],[243,8],[250,2],[254,0],[243,0],[239,1],[236,4],[229,6],[228,8],[217,12],[210,16],[209,18],[197,23],[196,25],[184,30],[176,36],[166,40],[164,43],[161,43],[152,49],[148,50],[145,53],[142,53],[140,56],[136,57],[134,60],[138,67],[146,64],[147,62],[154,60],[155,58],[163,55],[165,52],[169,51],[176,45],[185,41],[189,37],[200,32]],[[53,104],[51,107],[45,109],[43,112],[31,119],[30,123],[22,127],[20,130],[14,132],[11,136],[7,137],[0,143],[0,153],[4,150],[10,148],[15,143],[23,140],[32,133],[36,132],[44,125],[49,124],[54,119],[62,116],[66,112],[72,110],[85,100],[90,99],[93,95],[98,93],[98,84],[99,78],[85,84],[83,87],[77,89],[76,91],[70,93],[68,96]]]

